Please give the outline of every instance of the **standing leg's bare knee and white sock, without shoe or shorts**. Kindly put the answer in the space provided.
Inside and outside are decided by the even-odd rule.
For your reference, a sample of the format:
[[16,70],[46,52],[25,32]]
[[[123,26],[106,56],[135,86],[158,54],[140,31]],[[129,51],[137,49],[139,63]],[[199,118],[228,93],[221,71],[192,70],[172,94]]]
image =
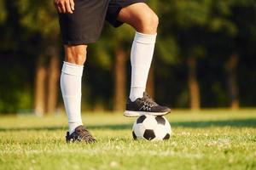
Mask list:
[[61,93],[68,118],[69,133],[83,125],[81,118],[81,83],[86,46],[65,46],[65,61],[61,70]]

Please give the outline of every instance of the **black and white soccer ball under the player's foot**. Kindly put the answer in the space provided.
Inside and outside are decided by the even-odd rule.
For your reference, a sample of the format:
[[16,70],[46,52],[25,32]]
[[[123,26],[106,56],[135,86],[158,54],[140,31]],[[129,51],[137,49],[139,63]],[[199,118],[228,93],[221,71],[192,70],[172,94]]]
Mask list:
[[163,140],[170,139],[171,125],[164,116],[139,116],[133,123],[133,139]]

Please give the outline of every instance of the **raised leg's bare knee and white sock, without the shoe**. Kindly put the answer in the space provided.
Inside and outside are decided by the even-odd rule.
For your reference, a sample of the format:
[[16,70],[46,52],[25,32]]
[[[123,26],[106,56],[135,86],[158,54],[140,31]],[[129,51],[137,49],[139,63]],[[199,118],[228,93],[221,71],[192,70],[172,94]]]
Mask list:
[[118,20],[135,28],[131,46],[131,101],[143,97],[148,71],[154,54],[158,17],[146,3],[135,3],[122,8]]

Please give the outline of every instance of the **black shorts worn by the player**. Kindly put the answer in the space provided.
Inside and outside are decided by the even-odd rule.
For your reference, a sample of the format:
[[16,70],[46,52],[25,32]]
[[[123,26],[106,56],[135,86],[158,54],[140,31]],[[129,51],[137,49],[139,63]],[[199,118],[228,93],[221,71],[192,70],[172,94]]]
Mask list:
[[96,42],[101,35],[104,20],[114,26],[121,8],[146,0],[75,0],[73,14],[59,14],[64,44],[79,45]]

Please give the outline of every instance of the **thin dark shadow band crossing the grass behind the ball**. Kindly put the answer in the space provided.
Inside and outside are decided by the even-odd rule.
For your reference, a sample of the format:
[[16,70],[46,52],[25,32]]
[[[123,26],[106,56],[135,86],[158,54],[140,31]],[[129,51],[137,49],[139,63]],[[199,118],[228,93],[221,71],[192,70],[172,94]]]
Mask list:
[[[221,121],[199,121],[199,122],[172,122],[172,127],[256,127],[256,119],[234,119],[234,120],[221,120]],[[106,124],[106,125],[89,125],[86,126],[88,129],[96,130],[125,130],[131,129],[131,123],[125,124]],[[67,127],[56,126],[56,127],[0,127],[0,132],[7,131],[29,131],[29,130],[67,130]]]

